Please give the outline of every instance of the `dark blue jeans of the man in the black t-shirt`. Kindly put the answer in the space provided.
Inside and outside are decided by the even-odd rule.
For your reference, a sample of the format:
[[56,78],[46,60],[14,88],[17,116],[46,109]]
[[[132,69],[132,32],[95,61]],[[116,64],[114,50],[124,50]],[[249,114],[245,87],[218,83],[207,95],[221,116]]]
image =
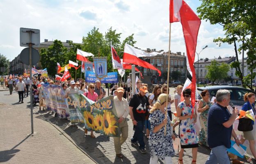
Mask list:
[[144,138],[143,138],[143,128],[145,121],[137,121],[137,125],[135,125],[135,132],[133,134],[132,142],[139,142],[139,149],[145,148]]

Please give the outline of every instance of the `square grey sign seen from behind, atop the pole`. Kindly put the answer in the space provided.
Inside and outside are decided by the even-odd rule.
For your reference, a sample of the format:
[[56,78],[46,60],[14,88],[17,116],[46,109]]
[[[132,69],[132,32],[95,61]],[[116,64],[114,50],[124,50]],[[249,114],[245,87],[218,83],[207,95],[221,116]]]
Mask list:
[[[31,33],[31,37],[30,37],[30,33]],[[40,46],[40,30],[21,27],[20,28],[20,46],[29,47],[29,43],[32,43],[32,47]]]

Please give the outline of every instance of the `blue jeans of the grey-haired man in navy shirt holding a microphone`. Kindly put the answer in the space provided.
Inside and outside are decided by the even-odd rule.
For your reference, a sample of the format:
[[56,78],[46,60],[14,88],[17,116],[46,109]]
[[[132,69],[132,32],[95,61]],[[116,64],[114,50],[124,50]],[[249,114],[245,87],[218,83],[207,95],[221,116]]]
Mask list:
[[230,164],[229,156],[224,145],[212,148],[206,164]]

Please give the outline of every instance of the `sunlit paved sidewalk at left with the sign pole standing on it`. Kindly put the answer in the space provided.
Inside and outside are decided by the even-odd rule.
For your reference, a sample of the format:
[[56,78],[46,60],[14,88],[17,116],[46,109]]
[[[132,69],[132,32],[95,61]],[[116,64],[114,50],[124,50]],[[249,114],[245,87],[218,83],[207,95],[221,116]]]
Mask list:
[[[7,164],[93,164],[55,126],[35,118],[31,133],[29,97],[18,102],[18,94],[0,92],[0,163]],[[38,108],[38,107],[37,107]],[[35,109],[34,109],[35,111]],[[67,134],[66,134],[67,135]]]

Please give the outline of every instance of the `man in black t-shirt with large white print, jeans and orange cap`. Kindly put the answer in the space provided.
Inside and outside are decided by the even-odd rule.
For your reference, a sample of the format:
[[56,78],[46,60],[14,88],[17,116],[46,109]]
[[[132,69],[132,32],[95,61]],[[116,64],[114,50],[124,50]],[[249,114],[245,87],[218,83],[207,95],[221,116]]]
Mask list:
[[[146,153],[145,143],[143,139],[143,128],[145,122],[145,116],[148,114],[149,100],[146,98],[145,93],[147,93],[147,87],[142,86],[139,89],[139,93],[133,95],[129,104],[130,116],[135,125],[135,132],[133,138],[131,139],[131,144],[134,146],[139,146],[141,153]],[[137,144],[139,142],[139,145]]]

